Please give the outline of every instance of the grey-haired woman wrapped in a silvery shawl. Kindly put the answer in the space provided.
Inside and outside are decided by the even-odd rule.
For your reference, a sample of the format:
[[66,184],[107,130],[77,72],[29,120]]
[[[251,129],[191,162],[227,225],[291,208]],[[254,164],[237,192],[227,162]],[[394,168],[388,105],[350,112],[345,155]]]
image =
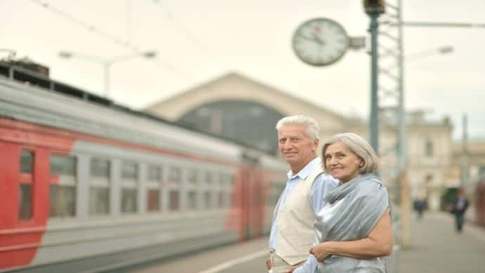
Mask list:
[[354,133],[334,135],[323,145],[323,168],[340,185],[325,197],[315,221],[320,244],[310,253],[318,270],[387,272],[384,256],[392,253],[392,224],[387,189],[373,172],[377,156]]

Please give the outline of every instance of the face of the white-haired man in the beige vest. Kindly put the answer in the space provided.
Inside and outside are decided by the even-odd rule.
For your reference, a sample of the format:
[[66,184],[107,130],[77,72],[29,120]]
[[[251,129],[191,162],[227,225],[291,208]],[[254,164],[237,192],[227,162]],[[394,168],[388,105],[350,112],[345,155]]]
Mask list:
[[315,158],[318,140],[311,140],[303,124],[288,124],[278,131],[278,148],[292,167],[303,168]]

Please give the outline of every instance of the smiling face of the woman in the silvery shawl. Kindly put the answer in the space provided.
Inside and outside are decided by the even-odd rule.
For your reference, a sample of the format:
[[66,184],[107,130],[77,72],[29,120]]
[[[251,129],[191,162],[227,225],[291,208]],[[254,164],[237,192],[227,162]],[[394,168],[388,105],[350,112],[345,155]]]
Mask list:
[[325,166],[334,178],[349,182],[360,173],[363,160],[342,144],[335,142],[325,150]]

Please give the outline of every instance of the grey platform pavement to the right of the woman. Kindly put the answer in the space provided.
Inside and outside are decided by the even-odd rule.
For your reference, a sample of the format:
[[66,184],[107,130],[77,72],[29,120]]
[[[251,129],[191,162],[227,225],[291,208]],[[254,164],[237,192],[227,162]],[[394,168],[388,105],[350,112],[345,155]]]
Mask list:
[[[469,211],[468,213],[471,213]],[[470,222],[455,232],[453,215],[425,213],[411,218],[411,246],[401,249],[397,273],[485,272],[485,229]]]

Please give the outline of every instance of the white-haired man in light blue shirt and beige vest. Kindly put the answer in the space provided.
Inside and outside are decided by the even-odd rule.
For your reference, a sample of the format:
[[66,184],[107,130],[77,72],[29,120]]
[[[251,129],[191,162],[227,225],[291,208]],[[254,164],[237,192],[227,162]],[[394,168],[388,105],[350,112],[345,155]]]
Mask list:
[[272,273],[313,273],[316,259],[309,255],[315,242],[313,222],[325,205],[323,197],[337,180],[323,173],[316,156],[318,124],[308,116],[286,116],[276,124],[280,154],[290,165],[286,187],[273,212],[269,237]]

